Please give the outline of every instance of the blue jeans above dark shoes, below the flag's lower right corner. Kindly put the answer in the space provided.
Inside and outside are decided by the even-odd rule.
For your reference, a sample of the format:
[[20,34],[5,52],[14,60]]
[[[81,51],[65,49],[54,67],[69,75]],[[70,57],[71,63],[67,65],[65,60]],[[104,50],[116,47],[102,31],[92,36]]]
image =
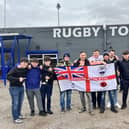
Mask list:
[[[110,103],[111,103],[111,109],[114,108],[114,95],[113,95],[114,91],[108,91],[108,95],[109,95],[109,99],[110,99]],[[105,110],[105,96],[106,96],[106,91],[102,92],[101,95],[101,104],[100,104],[100,108]]]

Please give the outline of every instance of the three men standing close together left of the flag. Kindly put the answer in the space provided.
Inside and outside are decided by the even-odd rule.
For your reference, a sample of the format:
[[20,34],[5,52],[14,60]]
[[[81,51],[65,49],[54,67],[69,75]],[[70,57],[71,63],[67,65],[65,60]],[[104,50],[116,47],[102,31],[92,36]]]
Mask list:
[[[10,82],[9,92],[12,98],[12,116],[14,123],[22,123],[21,107],[24,99],[24,86],[30,106],[31,116],[35,115],[34,97],[40,116],[53,114],[51,110],[51,96],[53,80],[55,78],[54,69],[51,66],[50,57],[45,57],[44,64],[39,65],[37,59],[30,62],[22,58],[20,64],[13,68],[7,76]],[[47,104],[45,103],[47,98]]]

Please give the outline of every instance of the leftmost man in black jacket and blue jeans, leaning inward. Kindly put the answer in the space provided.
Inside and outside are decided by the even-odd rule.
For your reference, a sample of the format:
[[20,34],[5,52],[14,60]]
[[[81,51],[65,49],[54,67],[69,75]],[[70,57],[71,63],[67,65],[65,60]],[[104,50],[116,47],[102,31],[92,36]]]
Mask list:
[[7,75],[10,82],[9,92],[12,99],[12,116],[14,123],[23,123],[21,120],[21,108],[24,99],[24,86],[23,82],[26,79],[28,60],[22,58],[20,64],[13,68]]

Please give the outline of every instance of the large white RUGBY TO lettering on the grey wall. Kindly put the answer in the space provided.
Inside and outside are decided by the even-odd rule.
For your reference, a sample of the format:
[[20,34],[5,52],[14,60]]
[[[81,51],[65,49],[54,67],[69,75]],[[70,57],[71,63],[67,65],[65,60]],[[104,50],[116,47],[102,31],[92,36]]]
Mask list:
[[[99,32],[102,31],[103,27],[60,27],[53,29],[53,38],[81,38],[81,37],[98,37]],[[109,30],[109,31],[108,31]],[[104,30],[105,31],[105,30]],[[107,33],[111,36],[127,36],[129,34],[129,27],[123,26],[108,26],[106,29]]]

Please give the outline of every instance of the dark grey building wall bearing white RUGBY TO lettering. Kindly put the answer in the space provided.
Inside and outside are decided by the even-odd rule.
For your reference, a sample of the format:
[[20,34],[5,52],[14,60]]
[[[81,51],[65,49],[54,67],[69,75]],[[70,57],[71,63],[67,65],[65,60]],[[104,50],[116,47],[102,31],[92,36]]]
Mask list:
[[[118,55],[129,49],[129,25],[7,28],[5,32],[31,35],[30,50],[58,50],[60,57],[69,52],[72,60],[81,50],[91,56],[94,49],[103,53],[113,48]],[[25,40],[21,42],[23,56],[26,43]]]

